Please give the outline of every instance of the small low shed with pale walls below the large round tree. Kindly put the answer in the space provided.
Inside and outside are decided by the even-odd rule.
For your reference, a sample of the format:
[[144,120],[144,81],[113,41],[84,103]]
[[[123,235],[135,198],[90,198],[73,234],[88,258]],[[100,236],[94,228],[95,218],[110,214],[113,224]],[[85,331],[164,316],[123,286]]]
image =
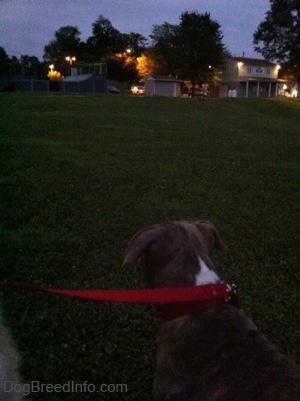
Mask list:
[[179,97],[182,83],[171,75],[149,75],[145,79],[146,96]]

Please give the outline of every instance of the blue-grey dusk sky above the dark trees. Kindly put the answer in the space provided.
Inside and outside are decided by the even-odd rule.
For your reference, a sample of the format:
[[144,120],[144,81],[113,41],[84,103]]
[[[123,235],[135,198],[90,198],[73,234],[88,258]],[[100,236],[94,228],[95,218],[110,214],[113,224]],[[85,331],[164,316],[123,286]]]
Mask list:
[[253,33],[269,8],[269,0],[0,0],[0,46],[9,56],[42,60],[44,46],[59,28],[77,26],[86,40],[100,14],[122,33],[148,37],[153,25],[178,24],[182,12],[198,11],[209,12],[221,25],[233,55],[260,58]]

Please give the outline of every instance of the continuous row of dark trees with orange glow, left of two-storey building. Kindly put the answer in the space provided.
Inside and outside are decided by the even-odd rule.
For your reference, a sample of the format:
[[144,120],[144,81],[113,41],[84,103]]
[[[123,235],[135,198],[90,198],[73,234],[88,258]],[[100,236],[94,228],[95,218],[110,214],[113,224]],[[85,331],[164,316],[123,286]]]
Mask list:
[[69,71],[66,57],[76,63],[107,63],[108,78],[134,81],[149,74],[174,74],[193,82],[208,81],[212,66],[220,68],[225,54],[221,26],[209,13],[184,12],[178,25],[154,25],[147,38],[135,32],[121,33],[100,15],[92,24],[92,35],[81,40],[78,27],[64,26],[44,47],[43,62],[35,56],[9,58],[0,48],[1,72],[41,75],[50,64],[63,75]]

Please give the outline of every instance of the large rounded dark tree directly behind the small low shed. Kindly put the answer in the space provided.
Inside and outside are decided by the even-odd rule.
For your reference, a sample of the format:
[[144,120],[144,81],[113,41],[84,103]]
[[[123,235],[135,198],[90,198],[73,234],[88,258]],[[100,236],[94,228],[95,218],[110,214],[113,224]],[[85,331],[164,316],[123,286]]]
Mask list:
[[154,26],[151,38],[164,56],[169,72],[196,83],[208,82],[211,67],[223,64],[225,47],[218,22],[210,14],[184,12],[179,25]]

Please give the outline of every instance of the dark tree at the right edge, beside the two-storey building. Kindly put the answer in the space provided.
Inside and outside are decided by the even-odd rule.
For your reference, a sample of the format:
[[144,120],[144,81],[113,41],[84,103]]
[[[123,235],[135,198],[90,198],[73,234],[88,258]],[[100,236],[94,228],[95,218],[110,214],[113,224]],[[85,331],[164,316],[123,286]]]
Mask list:
[[270,0],[253,35],[254,49],[266,60],[283,63],[300,87],[300,3],[299,0]]

